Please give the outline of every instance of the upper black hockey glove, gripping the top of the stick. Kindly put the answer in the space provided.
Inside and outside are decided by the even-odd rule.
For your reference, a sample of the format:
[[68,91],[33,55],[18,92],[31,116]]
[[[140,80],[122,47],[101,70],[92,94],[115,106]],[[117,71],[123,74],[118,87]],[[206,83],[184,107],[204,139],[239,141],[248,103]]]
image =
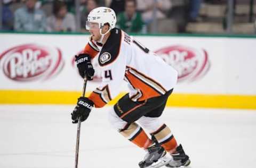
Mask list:
[[76,66],[82,78],[86,77],[87,80],[92,80],[94,69],[91,63],[91,57],[88,54],[76,55]]

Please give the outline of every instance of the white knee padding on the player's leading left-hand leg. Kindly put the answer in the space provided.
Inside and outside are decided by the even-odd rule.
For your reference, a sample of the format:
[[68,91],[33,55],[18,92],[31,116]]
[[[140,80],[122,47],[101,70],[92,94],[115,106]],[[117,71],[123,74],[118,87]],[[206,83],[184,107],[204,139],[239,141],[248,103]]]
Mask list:
[[108,113],[108,120],[113,128],[116,130],[122,130],[127,124],[126,121],[122,120],[115,112],[114,107]]

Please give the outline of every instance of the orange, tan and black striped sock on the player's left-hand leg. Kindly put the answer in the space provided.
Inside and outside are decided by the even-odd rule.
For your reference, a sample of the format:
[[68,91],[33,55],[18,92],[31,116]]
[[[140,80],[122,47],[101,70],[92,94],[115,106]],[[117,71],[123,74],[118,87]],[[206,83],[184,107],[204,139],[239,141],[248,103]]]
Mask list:
[[147,149],[152,144],[145,131],[137,123],[125,125],[120,133],[140,148]]

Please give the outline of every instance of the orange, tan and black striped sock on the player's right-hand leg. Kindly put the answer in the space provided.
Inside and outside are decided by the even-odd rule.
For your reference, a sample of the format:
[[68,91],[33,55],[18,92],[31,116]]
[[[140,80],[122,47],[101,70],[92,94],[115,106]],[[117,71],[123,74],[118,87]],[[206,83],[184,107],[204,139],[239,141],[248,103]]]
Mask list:
[[151,136],[154,136],[159,144],[170,153],[175,152],[177,147],[177,141],[172,135],[172,132],[167,125],[163,124],[158,130],[153,133],[150,133]]

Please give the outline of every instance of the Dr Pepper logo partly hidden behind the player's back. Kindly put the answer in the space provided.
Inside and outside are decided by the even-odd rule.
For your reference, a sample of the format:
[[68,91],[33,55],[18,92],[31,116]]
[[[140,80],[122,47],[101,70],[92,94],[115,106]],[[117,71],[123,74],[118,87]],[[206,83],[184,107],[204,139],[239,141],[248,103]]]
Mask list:
[[208,54],[204,49],[176,45],[158,49],[155,53],[178,71],[178,81],[194,81],[210,68]]

